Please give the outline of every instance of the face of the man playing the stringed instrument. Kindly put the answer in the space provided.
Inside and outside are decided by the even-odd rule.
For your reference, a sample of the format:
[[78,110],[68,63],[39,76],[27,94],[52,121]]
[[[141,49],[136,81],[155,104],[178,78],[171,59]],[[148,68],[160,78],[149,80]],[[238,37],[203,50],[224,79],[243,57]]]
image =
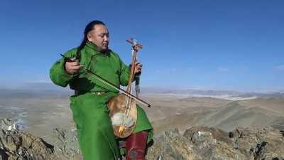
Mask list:
[[109,48],[109,31],[102,24],[95,25],[94,29],[89,31],[87,38],[98,47],[99,51],[105,51]]

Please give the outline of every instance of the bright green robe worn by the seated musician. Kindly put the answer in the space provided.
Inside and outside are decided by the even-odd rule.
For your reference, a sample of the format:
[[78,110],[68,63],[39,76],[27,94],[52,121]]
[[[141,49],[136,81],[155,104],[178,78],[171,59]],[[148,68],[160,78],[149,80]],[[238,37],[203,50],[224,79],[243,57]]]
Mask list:
[[[67,51],[68,58],[76,57],[77,48]],[[121,156],[118,139],[115,139],[107,102],[119,92],[94,75],[81,70],[76,75],[69,75],[64,68],[64,58],[58,60],[50,68],[50,79],[62,87],[70,85],[72,90],[80,94],[70,96],[70,108],[77,127],[80,149],[84,160],[111,160]],[[125,65],[119,55],[110,50],[108,54],[97,51],[94,43],[87,42],[80,52],[80,64],[84,68],[109,80],[117,87],[128,85],[130,68]],[[102,95],[90,92],[105,91]],[[137,105],[137,123],[133,133],[148,130],[148,142],[153,138],[153,127],[144,110]]]

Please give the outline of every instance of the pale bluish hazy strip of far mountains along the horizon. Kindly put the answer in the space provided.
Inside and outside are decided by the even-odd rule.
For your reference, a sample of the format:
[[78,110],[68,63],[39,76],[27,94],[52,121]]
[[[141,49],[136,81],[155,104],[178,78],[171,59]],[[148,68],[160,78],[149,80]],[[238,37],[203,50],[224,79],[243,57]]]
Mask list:
[[[55,93],[68,93],[69,87],[60,87],[52,82],[28,82],[17,87],[0,87],[1,91],[12,91],[12,95],[21,95],[23,92],[30,92],[29,94],[50,95]],[[254,97],[284,97],[284,92],[237,92],[233,90],[195,90],[195,89],[175,89],[167,87],[141,87],[141,93],[147,94],[173,94],[173,95],[188,95],[189,97],[215,97],[225,100],[243,100]],[[0,97],[7,94],[0,94]],[[8,93],[8,95],[11,95]]]

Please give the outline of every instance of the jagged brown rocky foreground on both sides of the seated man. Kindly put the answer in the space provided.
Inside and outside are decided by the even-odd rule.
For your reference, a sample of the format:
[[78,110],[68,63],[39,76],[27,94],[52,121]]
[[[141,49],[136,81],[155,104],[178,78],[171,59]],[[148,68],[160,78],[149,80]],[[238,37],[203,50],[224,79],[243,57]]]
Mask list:
[[[0,120],[0,160],[82,160],[75,130],[53,129],[48,141]],[[238,127],[232,132],[192,127],[167,130],[148,148],[148,160],[284,160],[283,131]]]

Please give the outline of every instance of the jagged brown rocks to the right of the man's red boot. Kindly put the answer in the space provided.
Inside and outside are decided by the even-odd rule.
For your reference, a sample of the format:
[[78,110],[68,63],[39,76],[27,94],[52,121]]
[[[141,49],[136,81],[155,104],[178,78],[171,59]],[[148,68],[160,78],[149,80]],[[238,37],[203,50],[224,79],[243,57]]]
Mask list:
[[278,129],[236,128],[226,133],[209,127],[177,129],[161,134],[148,150],[148,159],[283,160],[284,137]]

